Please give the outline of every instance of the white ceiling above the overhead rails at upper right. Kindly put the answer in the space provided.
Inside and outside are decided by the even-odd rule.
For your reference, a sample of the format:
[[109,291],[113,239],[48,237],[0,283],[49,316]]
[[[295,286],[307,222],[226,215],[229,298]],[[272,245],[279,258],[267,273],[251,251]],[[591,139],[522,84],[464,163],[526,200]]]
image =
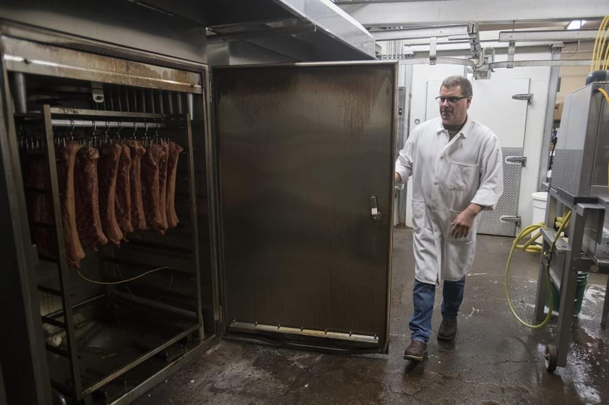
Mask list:
[[[333,2],[371,33],[388,29],[414,27],[433,29],[440,26],[470,24],[472,27],[470,33],[477,33],[479,40],[486,42],[498,40],[500,31],[566,30],[574,19],[586,20],[581,29],[596,30],[602,18],[609,13],[609,2],[606,0],[577,2],[512,0],[509,7],[499,7],[498,2],[487,0],[333,0]],[[442,40],[442,37],[446,38],[446,35],[438,35],[438,50],[442,49],[440,44],[443,41],[448,43]],[[417,38],[415,41],[410,40],[410,43],[417,46],[429,44],[429,38]],[[456,43],[451,41],[451,44]],[[507,47],[507,43],[493,46],[496,45]]]

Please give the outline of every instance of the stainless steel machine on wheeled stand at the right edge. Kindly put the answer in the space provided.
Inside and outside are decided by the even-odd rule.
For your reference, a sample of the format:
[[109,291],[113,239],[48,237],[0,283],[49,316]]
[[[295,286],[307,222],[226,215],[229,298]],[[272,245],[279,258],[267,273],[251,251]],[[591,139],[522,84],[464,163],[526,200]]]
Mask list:
[[[550,372],[566,365],[578,272],[609,274],[609,105],[598,89],[609,91],[609,83],[591,83],[566,97],[554,149],[543,252],[555,240],[555,218],[571,210],[571,221],[566,238],[558,238],[554,252],[542,256],[537,284],[535,314],[539,320],[544,319],[547,266],[551,282],[560,291],[560,303],[555,303],[559,311],[557,344],[546,346]],[[603,328],[608,313],[605,293]]]

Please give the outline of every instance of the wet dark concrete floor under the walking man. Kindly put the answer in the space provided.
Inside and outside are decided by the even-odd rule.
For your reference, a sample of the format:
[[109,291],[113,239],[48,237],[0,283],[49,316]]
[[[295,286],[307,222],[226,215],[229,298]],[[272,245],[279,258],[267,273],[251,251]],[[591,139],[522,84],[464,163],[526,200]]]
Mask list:
[[[436,294],[429,359],[402,359],[409,342],[414,265],[412,232],[396,229],[393,244],[389,355],[337,356],[222,341],[145,393],[135,404],[607,404],[609,330],[600,329],[606,279],[591,274],[582,313],[574,317],[568,367],[544,369],[556,318],[543,330],[521,327],[504,297],[511,240],[479,236],[465,283],[459,335],[439,344]],[[512,297],[531,319],[538,257],[513,260]]]

